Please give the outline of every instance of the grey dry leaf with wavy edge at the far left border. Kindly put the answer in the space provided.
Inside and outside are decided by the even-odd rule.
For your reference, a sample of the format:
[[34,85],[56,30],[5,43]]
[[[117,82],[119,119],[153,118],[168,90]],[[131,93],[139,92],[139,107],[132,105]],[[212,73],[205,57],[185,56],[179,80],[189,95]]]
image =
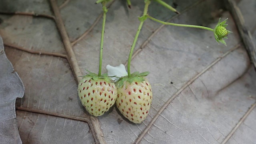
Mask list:
[[15,100],[24,95],[24,85],[4,52],[0,37],[0,143],[21,144]]

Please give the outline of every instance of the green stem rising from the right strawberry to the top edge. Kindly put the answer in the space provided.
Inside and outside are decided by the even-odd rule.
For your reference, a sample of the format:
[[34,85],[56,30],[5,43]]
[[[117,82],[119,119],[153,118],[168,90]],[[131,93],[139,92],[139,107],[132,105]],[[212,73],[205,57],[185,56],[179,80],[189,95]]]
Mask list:
[[[146,15],[147,15],[149,4],[150,4],[150,0],[147,0],[147,1],[145,2],[145,7],[144,7],[143,16],[146,16]],[[142,16],[142,17],[143,17],[143,16]],[[145,21],[145,20],[141,20],[141,21],[140,21],[140,26],[139,26],[139,28],[138,28],[138,30],[137,30],[137,32],[136,32],[135,38],[134,38],[133,43],[132,43],[132,48],[131,48],[131,50],[130,50],[130,54],[129,54],[129,58],[128,58],[128,64],[127,64],[127,72],[128,72],[128,77],[129,77],[129,78],[131,77],[130,65],[131,65],[133,50],[134,50],[134,48],[135,48],[136,42],[137,42],[137,40],[138,40],[138,36],[139,36],[139,34],[140,34],[140,30],[141,30],[141,28],[142,28],[142,26],[143,26],[144,21]]]

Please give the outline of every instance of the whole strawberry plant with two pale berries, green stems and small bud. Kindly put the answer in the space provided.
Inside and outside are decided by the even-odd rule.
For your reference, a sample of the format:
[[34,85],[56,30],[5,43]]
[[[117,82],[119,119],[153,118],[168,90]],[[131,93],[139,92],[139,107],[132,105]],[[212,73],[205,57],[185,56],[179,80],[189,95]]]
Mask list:
[[[226,42],[223,38],[227,38],[227,35],[231,32],[226,29],[226,20],[223,22],[218,22],[214,29],[204,27],[204,26],[194,26],[187,24],[174,24],[170,22],[163,22],[156,18],[151,17],[148,14],[148,6],[151,1],[158,2],[162,6],[168,8],[169,10],[179,14],[179,12],[172,8],[172,6],[163,2],[162,0],[144,0],[145,7],[144,12],[140,20],[140,25],[136,32],[134,41],[132,43],[132,47],[130,50],[128,64],[127,64],[127,76],[117,77],[119,80],[116,82],[117,90],[112,82],[112,80],[107,76],[107,74],[101,75],[101,67],[102,67],[102,50],[103,50],[103,40],[104,40],[104,28],[106,22],[106,13],[108,9],[106,8],[106,3],[110,0],[98,0],[95,4],[102,3],[103,9],[103,22],[102,22],[102,35],[100,41],[100,63],[99,63],[99,72],[98,74],[92,73],[90,71],[89,74],[83,76],[82,80],[78,84],[78,96],[86,108],[86,110],[94,115],[101,116],[104,112],[108,111],[111,106],[114,105],[116,100],[117,107],[120,112],[128,118],[128,120],[134,123],[141,123],[145,120],[148,115],[148,111],[150,109],[150,105],[152,102],[152,88],[150,82],[145,78],[149,72],[134,72],[131,74],[130,72],[130,64],[132,60],[133,50],[135,48],[136,42],[138,40],[138,36],[144,24],[144,21],[149,18],[156,22],[166,25],[172,26],[182,26],[182,27],[191,27],[191,28],[201,28],[205,30],[210,30],[214,32],[214,37],[216,41],[226,45]],[[130,0],[127,0],[128,7],[131,8]],[[117,97],[117,98],[116,98]]]

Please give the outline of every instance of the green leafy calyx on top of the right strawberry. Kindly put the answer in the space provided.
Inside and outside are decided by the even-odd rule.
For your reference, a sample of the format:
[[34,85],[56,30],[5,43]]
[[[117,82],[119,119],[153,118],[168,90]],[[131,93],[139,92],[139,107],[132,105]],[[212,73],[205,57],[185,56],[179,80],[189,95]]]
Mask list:
[[116,78],[119,78],[119,80],[116,82],[116,86],[118,88],[121,88],[123,85],[124,85],[124,82],[129,82],[130,84],[132,82],[142,82],[144,81],[144,76],[148,76],[149,72],[142,72],[142,73],[139,73],[139,72],[134,72],[131,74],[131,76],[123,76],[123,77],[116,77]]

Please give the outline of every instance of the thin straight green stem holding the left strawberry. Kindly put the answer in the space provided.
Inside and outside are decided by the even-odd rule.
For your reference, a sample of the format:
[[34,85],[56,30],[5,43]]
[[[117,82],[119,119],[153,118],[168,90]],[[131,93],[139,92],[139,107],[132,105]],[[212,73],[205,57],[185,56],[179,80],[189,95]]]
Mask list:
[[104,30],[105,30],[106,14],[108,12],[108,9],[106,8],[106,2],[102,2],[102,10],[103,10],[103,21],[102,21],[101,40],[100,40],[100,63],[99,63],[98,76],[101,76]]

